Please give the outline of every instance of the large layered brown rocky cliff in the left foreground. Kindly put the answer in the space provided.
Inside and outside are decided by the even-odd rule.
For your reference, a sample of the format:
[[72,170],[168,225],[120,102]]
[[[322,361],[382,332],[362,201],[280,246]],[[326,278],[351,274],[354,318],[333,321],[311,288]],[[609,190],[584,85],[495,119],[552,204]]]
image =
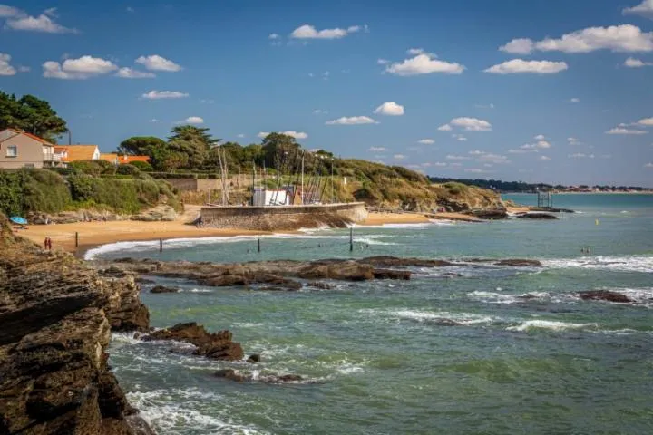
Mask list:
[[144,330],[132,276],[15,237],[0,216],[0,433],[153,433],[107,366],[112,327]]

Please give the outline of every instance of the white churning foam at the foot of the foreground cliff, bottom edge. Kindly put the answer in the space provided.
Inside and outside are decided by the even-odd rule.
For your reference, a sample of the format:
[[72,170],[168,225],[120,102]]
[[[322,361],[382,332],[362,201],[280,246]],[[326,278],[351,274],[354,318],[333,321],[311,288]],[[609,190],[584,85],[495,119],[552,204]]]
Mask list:
[[[202,433],[224,434],[264,434],[268,433],[253,425],[240,424],[227,415],[214,416],[199,411],[193,406],[198,401],[207,403],[219,402],[219,394],[201,392],[197,389],[173,391],[155,390],[148,392],[129,392],[128,400],[141,411],[142,417],[151,423],[160,433],[182,434],[189,429]],[[182,400],[180,400],[182,399]],[[216,407],[210,407],[216,410]],[[220,412],[223,414],[224,412]]]

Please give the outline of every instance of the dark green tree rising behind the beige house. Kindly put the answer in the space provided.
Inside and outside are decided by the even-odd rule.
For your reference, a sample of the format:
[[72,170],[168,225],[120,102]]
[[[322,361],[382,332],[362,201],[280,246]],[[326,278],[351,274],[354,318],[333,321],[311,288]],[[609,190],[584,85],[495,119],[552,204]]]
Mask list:
[[35,134],[54,142],[56,137],[68,131],[63,118],[59,117],[49,102],[34,95],[15,95],[0,92],[0,130],[14,128]]

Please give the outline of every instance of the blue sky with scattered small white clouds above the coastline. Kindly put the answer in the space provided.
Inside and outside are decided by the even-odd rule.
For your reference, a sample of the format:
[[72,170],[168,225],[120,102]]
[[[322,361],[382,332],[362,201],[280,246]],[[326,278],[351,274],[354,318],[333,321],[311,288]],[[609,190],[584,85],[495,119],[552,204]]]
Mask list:
[[103,152],[193,123],[439,177],[653,187],[653,0],[22,0],[0,4],[0,89]]

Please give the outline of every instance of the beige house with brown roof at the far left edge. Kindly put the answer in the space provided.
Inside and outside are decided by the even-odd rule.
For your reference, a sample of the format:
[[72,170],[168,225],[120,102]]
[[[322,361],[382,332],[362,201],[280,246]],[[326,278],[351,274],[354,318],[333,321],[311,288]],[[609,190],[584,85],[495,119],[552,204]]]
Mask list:
[[58,163],[53,143],[25,131],[0,131],[0,168],[44,168]]

